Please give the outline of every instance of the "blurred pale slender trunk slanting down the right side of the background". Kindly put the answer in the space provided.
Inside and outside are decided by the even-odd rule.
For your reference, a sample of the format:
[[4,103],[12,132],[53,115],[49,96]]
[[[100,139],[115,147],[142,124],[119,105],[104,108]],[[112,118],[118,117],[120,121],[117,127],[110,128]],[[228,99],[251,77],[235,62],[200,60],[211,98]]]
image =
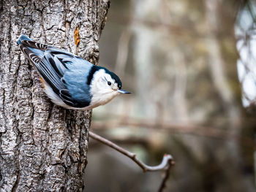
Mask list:
[[218,9],[218,1],[206,0],[206,25],[208,26],[208,37],[206,45],[208,46],[208,64],[211,72],[211,79],[214,82],[214,87],[221,96],[223,105],[227,109],[228,118],[230,120],[230,128],[233,126],[233,119],[238,118],[236,112],[236,103],[233,99],[231,86],[228,85],[225,69],[225,61],[222,58],[221,41],[216,37],[216,31],[220,31],[221,20],[218,20],[219,15],[216,14]]

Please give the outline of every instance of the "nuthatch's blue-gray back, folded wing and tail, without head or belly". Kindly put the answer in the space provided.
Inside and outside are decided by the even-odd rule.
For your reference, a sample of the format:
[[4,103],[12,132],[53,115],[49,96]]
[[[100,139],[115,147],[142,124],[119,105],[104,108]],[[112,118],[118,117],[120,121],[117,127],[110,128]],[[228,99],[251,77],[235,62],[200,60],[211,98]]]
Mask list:
[[64,103],[78,108],[89,106],[91,96],[87,76],[93,66],[89,61],[56,47],[33,42],[26,35],[20,35],[17,44]]

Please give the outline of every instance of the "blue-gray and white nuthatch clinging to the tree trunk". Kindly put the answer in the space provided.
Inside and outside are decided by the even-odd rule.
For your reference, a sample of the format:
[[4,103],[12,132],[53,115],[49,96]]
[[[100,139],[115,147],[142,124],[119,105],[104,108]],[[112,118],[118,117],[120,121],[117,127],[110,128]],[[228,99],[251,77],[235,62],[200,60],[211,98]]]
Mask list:
[[34,42],[21,34],[20,50],[37,69],[47,96],[54,104],[70,110],[91,110],[107,104],[121,93],[119,77],[65,50]]

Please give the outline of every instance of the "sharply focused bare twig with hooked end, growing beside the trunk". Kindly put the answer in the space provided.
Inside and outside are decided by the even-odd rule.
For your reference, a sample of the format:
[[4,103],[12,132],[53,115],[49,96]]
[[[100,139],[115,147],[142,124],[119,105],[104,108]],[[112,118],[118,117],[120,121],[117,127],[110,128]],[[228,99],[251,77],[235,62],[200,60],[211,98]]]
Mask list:
[[102,142],[103,144],[108,145],[109,147],[112,147],[114,150],[117,150],[118,152],[131,158],[132,161],[134,161],[136,164],[138,164],[138,166],[140,166],[141,169],[143,169],[143,172],[155,172],[155,171],[165,170],[165,177],[163,178],[162,183],[159,187],[160,192],[164,190],[165,183],[170,174],[170,168],[174,164],[172,155],[165,154],[162,158],[161,164],[159,164],[157,166],[148,166],[148,165],[144,164],[142,161],[140,161],[136,157],[135,153],[129,152],[128,150],[125,150],[123,147],[120,147],[120,146],[116,145],[115,143],[110,142],[110,140],[100,137],[98,134],[94,134],[91,131],[89,132],[89,135],[92,139]]

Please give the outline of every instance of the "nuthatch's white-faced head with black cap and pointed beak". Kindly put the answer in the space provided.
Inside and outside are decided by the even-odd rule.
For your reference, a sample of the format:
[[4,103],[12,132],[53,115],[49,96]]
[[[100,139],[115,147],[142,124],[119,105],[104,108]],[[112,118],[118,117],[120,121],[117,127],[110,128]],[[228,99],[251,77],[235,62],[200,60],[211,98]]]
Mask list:
[[121,93],[129,93],[121,89],[119,77],[103,67],[94,72],[91,80],[91,102],[92,104],[106,104],[108,101]]

